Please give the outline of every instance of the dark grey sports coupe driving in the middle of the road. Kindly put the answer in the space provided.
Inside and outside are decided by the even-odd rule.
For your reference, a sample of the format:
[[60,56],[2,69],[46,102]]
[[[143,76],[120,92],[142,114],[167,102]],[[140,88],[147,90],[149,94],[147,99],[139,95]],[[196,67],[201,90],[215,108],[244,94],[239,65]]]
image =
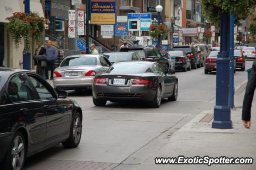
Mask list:
[[95,76],[92,95],[95,106],[104,106],[107,100],[138,100],[158,108],[163,98],[177,99],[178,78],[156,62],[116,62]]

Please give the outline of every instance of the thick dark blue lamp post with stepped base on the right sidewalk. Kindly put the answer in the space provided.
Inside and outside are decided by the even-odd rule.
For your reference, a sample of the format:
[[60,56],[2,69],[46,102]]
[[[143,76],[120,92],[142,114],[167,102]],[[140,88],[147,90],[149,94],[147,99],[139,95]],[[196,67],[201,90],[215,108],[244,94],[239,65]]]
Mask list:
[[222,12],[220,21],[220,52],[217,57],[216,106],[212,128],[230,129],[229,77],[230,77],[230,17]]

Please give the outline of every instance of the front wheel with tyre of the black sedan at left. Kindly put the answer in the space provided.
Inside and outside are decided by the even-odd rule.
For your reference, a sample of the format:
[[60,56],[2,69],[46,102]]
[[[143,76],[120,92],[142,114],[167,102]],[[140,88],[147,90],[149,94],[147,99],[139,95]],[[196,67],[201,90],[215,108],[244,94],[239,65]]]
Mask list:
[[65,148],[76,148],[81,140],[82,134],[82,120],[78,112],[75,113],[72,125],[70,127],[70,134],[68,140],[62,142]]

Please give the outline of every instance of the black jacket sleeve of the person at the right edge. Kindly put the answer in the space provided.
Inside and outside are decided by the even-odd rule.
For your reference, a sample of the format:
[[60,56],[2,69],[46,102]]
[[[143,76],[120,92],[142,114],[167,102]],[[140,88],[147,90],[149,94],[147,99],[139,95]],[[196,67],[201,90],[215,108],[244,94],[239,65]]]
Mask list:
[[254,60],[252,64],[250,79],[247,83],[246,90],[245,90],[243,110],[242,110],[242,120],[251,120],[251,107],[252,107],[252,100],[253,100],[255,88],[256,88],[256,60]]

